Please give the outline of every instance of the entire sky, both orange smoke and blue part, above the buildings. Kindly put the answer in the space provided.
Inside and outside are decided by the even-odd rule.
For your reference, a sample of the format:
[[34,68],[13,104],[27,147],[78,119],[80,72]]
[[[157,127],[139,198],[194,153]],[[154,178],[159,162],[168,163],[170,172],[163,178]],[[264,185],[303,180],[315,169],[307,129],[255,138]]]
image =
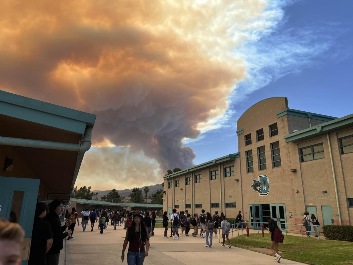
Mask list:
[[0,89],[97,114],[76,185],[162,183],[237,152],[237,119],[271,96],[352,113],[352,1],[190,3],[3,3]]

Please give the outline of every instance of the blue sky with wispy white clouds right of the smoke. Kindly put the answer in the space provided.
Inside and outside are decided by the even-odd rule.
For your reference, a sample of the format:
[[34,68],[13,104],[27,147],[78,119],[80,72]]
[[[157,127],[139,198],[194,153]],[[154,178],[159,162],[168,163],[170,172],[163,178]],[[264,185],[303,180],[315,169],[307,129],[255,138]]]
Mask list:
[[[285,96],[290,108],[329,116],[353,113],[353,1],[294,1],[283,10],[269,35],[244,45],[257,51],[253,60],[259,65],[247,70],[260,84],[238,84],[226,123],[186,144],[196,153],[195,164],[237,152],[237,119],[265,98]],[[260,65],[259,56],[273,63]]]

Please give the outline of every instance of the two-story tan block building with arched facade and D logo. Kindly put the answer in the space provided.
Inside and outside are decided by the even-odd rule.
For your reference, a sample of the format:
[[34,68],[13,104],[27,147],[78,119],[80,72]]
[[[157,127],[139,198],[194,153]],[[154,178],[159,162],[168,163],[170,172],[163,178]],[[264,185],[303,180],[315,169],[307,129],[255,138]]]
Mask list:
[[251,228],[273,218],[297,230],[308,211],[321,225],[353,225],[353,114],[293,110],[276,97],[251,106],[237,126],[237,153],[163,177],[164,211],[235,218],[241,210]]

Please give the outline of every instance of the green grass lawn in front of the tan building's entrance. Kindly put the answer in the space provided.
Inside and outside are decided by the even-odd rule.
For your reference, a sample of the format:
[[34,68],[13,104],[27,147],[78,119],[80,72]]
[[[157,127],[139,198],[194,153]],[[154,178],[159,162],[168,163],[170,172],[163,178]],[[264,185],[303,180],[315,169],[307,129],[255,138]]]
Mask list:
[[[283,243],[278,244],[278,250],[283,251],[281,256],[284,259],[314,265],[353,264],[353,242],[284,236]],[[270,248],[270,241],[270,234],[265,234],[265,237],[261,234],[250,234],[250,237],[241,235],[232,238],[231,245],[246,249]]]

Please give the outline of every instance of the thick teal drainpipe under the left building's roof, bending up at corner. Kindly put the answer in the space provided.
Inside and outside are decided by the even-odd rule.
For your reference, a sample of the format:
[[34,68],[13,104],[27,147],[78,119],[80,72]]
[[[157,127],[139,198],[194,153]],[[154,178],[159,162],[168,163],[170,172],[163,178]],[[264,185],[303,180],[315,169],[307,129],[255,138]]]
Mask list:
[[21,146],[84,153],[92,145],[92,127],[86,127],[82,143],[63,143],[0,136],[0,145]]

